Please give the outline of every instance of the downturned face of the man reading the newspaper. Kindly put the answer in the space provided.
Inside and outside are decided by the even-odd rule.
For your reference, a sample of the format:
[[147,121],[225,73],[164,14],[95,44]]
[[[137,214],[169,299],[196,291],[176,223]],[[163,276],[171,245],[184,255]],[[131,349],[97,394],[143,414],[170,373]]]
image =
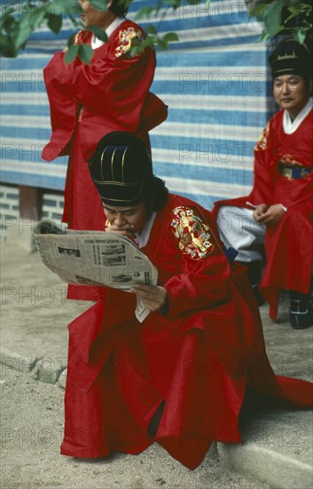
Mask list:
[[137,233],[144,228],[150,217],[143,202],[125,207],[103,204],[103,208],[106,219],[115,230]]

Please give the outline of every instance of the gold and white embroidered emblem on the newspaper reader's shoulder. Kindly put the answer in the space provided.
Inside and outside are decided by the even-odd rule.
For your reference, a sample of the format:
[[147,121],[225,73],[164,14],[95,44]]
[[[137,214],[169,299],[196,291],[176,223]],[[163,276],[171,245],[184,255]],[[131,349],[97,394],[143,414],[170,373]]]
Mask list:
[[171,227],[178,239],[179,249],[192,260],[200,260],[211,254],[214,245],[209,241],[210,228],[188,207],[176,207]]

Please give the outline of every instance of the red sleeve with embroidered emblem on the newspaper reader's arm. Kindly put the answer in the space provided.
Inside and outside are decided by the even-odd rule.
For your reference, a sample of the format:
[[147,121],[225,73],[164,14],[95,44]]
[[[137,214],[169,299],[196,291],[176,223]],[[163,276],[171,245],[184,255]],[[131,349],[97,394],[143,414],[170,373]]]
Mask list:
[[[176,207],[165,233],[181,255],[181,273],[164,284],[168,317],[229,301],[230,265],[208,221],[197,210]],[[178,248],[178,250],[177,250]]]

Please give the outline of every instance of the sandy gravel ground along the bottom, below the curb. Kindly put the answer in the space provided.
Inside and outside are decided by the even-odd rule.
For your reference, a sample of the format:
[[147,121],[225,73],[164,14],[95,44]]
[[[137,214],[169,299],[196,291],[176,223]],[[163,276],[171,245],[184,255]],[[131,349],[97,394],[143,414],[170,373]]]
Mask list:
[[207,457],[191,471],[154,444],[137,456],[78,460],[59,454],[62,389],[2,365],[2,489],[267,489]]

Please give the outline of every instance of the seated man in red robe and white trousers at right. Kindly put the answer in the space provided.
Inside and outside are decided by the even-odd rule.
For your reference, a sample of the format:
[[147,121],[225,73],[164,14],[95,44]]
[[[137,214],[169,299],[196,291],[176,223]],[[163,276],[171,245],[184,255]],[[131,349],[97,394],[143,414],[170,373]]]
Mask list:
[[249,196],[216,203],[226,246],[239,251],[257,293],[277,318],[279,290],[290,294],[290,323],[313,325],[310,284],[313,263],[313,103],[311,53],[293,39],[270,55],[273,92],[280,106],[254,148],[254,187]]

